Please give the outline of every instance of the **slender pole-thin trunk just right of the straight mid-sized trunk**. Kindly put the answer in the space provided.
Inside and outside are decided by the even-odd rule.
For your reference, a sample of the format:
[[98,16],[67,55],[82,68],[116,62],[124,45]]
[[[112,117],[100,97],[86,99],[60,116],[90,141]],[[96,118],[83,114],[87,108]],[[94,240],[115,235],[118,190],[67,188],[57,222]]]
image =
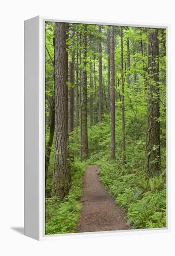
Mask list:
[[123,27],[121,27],[121,101],[122,101],[122,144],[123,144],[123,164],[126,162],[125,148],[125,98],[124,98],[124,75],[123,75]]

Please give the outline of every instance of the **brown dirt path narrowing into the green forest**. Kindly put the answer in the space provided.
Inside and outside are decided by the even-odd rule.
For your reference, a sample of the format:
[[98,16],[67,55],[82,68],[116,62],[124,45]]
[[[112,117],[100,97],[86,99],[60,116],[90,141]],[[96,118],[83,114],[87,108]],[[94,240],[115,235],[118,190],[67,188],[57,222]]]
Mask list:
[[101,184],[97,165],[86,166],[83,177],[82,208],[76,232],[129,229],[125,212]]

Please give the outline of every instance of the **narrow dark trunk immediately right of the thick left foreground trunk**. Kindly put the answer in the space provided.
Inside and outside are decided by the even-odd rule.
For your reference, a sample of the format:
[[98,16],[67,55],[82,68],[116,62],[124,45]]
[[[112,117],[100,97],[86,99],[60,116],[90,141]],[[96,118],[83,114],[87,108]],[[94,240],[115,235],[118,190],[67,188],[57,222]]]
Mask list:
[[69,134],[74,130],[74,88],[73,88],[73,62],[69,61],[68,82],[68,131]]

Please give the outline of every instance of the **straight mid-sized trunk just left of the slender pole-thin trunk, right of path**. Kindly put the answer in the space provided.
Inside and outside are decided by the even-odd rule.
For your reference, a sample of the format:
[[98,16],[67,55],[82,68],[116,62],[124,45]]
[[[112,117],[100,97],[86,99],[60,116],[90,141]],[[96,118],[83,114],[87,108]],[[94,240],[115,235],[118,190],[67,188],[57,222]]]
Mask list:
[[111,150],[110,159],[115,159],[115,67],[114,67],[114,26],[110,30],[110,67],[111,67]]

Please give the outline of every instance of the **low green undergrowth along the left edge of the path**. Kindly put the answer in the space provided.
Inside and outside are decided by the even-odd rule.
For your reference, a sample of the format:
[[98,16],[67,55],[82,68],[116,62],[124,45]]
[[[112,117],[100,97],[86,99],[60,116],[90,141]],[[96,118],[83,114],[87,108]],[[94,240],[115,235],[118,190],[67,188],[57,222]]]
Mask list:
[[46,198],[45,234],[73,233],[78,222],[82,194],[82,175],[85,165],[76,162],[71,166],[71,188],[64,201],[59,197]]

